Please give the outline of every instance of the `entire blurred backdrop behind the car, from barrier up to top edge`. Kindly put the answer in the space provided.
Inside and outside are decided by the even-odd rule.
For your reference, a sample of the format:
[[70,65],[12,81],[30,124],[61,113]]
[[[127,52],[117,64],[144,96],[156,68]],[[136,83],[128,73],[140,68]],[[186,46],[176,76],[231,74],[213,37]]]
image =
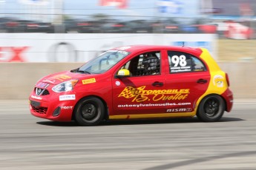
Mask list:
[[27,95],[13,92],[13,68],[33,85],[113,47],[184,44],[207,48],[237,96],[256,98],[255,13],[255,0],[0,0],[0,95]]

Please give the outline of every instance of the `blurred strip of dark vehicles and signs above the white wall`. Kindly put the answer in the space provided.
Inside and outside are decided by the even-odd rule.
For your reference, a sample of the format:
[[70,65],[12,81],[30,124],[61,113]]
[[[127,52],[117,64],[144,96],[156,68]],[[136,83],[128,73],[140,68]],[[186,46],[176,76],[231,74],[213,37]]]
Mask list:
[[217,33],[255,38],[254,0],[1,0],[1,33]]

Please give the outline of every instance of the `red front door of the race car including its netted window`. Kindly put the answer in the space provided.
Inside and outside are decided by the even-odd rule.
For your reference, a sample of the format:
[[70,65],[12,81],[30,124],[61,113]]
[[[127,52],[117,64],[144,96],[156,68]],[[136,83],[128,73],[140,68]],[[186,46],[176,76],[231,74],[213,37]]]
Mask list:
[[165,89],[161,53],[160,50],[141,52],[119,68],[128,69],[131,76],[113,78],[114,112],[111,114],[140,115],[165,112],[165,104],[159,99]]

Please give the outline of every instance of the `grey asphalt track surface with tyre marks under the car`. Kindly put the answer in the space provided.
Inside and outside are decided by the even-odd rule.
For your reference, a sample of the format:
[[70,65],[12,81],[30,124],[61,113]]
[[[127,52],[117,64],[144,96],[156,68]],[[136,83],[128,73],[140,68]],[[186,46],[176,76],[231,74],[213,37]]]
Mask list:
[[27,101],[0,101],[0,169],[256,169],[256,102],[216,123],[197,118],[82,127],[35,118]]

